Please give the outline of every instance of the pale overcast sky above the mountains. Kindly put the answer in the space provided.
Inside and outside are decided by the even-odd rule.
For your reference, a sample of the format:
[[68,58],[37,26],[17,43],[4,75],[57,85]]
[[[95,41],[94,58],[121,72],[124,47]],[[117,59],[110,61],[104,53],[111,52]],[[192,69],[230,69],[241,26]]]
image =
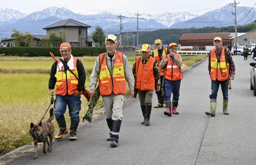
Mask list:
[[[19,10],[22,13],[32,13],[35,11],[43,10],[47,7],[64,7],[75,13],[86,12],[86,13],[96,13],[96,12],[121,12],[128,11],[129,13],[135,13],[137,10],[139,13],[148,13],[151,15],[157,13],[163,13],[164,11],[169,12],[189,12],[192,14],[203,15],[206,12],[221,8],[229,3],[234,3],[234,1],[229,0],[215,0],[215,1],[205,1],[205,0],[1,0],[0,8],[12,8]],[[240,2],[238,6],[252,7],[255,4],[255,0],[237,0]]]

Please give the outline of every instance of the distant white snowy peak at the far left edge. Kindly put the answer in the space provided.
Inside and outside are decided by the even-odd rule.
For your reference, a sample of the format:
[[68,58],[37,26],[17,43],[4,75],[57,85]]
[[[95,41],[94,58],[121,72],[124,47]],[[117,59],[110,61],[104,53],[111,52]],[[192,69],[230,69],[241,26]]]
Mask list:
[[18,10],[10,9],[10,8],[0,8],[0,21],[9,21],[12,19],[19,19],[24,18],[26,15],[25,13],[21,13]]

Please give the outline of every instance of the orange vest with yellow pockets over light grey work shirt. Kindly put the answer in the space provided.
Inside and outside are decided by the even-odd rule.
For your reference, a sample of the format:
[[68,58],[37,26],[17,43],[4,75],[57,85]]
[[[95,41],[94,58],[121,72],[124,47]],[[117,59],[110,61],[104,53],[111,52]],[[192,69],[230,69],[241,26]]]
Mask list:
[[103,59],[104,54],[99,55],[99,60],[103,60],[99,72],[99,93],[101,96],[109,96],[112,92],[115,95],[123,95],[126,93],[123,53],[116,51],[112,76],[107,67],[107,55]]

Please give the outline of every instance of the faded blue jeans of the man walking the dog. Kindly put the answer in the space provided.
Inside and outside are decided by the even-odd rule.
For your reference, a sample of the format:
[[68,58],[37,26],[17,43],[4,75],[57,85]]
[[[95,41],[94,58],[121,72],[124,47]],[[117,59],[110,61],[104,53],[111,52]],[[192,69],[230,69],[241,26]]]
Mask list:
[[81,110],[81,96],[76,95],[56,95],[54,105],[55,118],[61,119],[64,117],[67,106],[69,107],[69,116],[71,120],[79,120],[79,111]]

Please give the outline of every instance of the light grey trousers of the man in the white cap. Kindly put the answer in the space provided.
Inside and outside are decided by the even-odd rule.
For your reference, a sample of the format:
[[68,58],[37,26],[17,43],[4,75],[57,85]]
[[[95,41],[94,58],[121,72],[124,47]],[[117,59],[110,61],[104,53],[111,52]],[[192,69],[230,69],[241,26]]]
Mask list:
[[110,96],[102,96],[102,99],[106,119],[112,118],[112,120],[122,120],[124,95],[115,95],[112,92]]

